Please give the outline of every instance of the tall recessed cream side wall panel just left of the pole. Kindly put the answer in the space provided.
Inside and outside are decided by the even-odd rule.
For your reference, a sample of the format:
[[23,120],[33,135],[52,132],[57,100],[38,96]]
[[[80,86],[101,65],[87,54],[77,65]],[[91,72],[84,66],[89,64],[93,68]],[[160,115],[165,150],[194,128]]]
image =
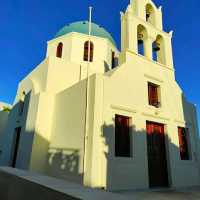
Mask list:
[[48,174],[82,183],[85,128],[85,81],[55,98]]

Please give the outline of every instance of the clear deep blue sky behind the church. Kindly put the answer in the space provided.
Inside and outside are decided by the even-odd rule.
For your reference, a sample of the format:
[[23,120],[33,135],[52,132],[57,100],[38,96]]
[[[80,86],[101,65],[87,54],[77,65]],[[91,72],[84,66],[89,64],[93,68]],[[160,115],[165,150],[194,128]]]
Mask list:
[[[176,79],[200,109],[200,1],[154,0],[164,30],[174,30]],[[120,15],[129,0],[6,0],[0,3],[0,101],[12,103],[18,82],[45,57],[46,42],[64,25],[88,19],[106,28],[120,48]],[[172,94],[170,94],[172,95]]]

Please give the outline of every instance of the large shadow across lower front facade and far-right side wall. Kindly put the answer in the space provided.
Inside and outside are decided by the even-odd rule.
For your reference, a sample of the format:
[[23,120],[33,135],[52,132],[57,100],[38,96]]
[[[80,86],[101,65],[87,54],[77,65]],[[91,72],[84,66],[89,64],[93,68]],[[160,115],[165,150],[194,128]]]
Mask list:
[[[174,144],[171,138],[169,138],[169,135],[172,134],[177,134],[177,137],[179,137],[178,123],[177,125],[176,123],[174,124],[177,126],[177,131],[174,133],[168,133],[168,124],[163,123],[163,143],[162,134],[160,134],[158,127],[155,128],[157,130],[150,130],[152,132],[149,136],[146,129],[138,129],[132,125],[134,124],[133,119],[133,123],[130,123],[129,126],[129,156],[116,156],[116,154],[118,154],[116,153],[118,151],[117,148],[120,147],[120,145],[118,145],[118,147],[116,146],[116,119],[113,119],[112,124],[104,124],[102,126],[103,141],[107,147],[107,151],[104,152],[104,154],[105,159],[107,159],[105,172],[107,173],[106,185],[108,190],[118,190],[119,188],[122,190],[132,188],[140,189],[144,188],[144,183],[146,183],[147,188],[184,186],[184,184],[185,186],[192,186],[199,184],[198,171],[191,174],[190,171],[184,171],[186,168],[188,168],[188,170],[196,169],[196,163],[193,163],[190,168],[190,165],[188,165],[189,162],[198,161],[198,168],[200,166],[200,138],[198,136],[199,130],[196,108],[194,105],[188,103],[183,95],[181,103],[184,114],[183,120],[186,122],[186,125],[183,124],[183,128],[189,128],[190,133],[187,138],[188,154],[191,154],[189,160],[181,160],[180,150],[182,147]],[[175,112],[176,110],[172,110],[172,113]],[[156,123],[156,119],[154,122]],[[151,127],[149,129],[151,129]],[[126,133],[123,132],[123,134]],[[127,139],[124,140],[125,141],[121,138],[122,143],[126,142],[126,145],[129,145],[129,141]],[[190,143],[191,140],[193,140],[193,143]],[[122,151],[123,148],[126,149],[126,147],[121,147]],[[183,147],[181,151],[185,151],[185,148]],[[158,169],[163,169],[163,171]],[[190,177],[185,176],[186,179],[184,179],[184,176],[182,176],[184,173],[190,174]],[[188,182],[185,180],[188,180]]]

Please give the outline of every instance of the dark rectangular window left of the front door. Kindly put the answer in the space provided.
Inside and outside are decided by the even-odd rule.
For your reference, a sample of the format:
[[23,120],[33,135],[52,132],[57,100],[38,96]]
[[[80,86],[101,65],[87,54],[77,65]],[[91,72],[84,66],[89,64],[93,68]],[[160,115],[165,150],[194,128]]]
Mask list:
[[115,115],[115,156],[131,157],[131,118]]

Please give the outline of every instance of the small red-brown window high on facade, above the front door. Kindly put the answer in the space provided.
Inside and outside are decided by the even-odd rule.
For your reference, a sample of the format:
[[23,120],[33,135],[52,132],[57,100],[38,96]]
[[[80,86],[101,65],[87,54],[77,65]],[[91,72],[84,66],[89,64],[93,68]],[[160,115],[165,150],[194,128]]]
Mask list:
[[159,89],[160,87],[158,85],[154,83],[148,83],[149,105],[154,106],[156,108],[160,107]]

